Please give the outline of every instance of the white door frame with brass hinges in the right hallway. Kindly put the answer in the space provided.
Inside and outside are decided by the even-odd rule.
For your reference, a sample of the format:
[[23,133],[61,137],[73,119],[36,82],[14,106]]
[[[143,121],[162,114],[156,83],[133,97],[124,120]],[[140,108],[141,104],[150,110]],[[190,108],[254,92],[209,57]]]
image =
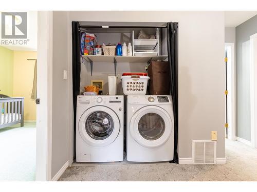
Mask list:
[[[226,46],[231,47],[231,68],[227,68],[227,71],[231,72],[231,91],[228,92],[231,95],[231,123],[229,123],[228,127],[228,139],[236,140],[236,68],[235,68],[235,45],[234,42],[225,42],[225,50]],[[231,92],[231,93],[230,93]],[[230,129],[231,128],[231,129]]]

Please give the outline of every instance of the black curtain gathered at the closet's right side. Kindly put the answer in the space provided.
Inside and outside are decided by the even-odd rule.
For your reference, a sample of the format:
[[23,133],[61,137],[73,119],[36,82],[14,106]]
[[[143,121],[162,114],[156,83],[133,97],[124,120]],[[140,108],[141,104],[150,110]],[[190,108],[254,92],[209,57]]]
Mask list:
[[174,159],[170,163],[178,163],[178,23],[167,24],[168,58],[170,62],[170,90],[174,114]]

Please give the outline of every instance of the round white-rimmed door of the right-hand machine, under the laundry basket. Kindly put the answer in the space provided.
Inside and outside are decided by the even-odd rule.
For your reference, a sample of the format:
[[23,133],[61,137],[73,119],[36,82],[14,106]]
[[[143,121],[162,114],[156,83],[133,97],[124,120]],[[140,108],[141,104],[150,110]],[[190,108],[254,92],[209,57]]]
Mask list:
[[144,147],[162,145],[169,139],[172,129],[169,114],[159,106],[145,106],[131,118],[131,135]]

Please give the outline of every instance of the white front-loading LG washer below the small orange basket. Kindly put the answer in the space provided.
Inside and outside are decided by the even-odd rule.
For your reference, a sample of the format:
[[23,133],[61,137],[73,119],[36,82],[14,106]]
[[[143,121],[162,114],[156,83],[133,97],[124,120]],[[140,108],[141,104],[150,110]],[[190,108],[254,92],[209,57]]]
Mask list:
[[78,96],[77,162],[123,161],[123,96]]

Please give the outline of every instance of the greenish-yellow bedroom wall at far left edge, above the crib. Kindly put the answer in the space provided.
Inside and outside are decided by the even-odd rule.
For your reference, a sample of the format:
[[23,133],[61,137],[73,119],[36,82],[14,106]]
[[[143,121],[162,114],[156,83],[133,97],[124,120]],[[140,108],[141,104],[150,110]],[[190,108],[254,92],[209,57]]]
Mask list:
[[12,97],[13,51],[0,46],[0,94]]

